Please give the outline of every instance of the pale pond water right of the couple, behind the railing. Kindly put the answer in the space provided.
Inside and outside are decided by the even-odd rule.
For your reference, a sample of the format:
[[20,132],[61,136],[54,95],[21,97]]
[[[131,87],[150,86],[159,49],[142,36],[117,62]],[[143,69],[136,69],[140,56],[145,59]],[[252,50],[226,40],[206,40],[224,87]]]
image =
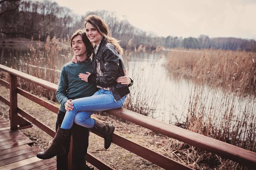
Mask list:
[[134,55],[128,62],[128,74],[135,80],[131,90],[134,97],[131,98],[138,102],[134,89],[149,93],[143,97],[152,104],[154,112],[150,116],[153,118],[173,124],[185,121],[188,112],[204,112],[204,118],[218,122],[230,114],[235,120],[241,118],[245,110],[255,112],[255,99],[239,98],[191,78],[169,75],[163,66],[165,62],[164,54],[145,57],[143,53]]

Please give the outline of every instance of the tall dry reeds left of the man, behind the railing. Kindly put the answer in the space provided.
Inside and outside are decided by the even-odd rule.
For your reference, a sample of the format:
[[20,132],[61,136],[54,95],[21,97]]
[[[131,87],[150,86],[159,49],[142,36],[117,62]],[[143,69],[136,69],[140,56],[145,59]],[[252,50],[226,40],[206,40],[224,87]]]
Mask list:
[[[39,38],[40,39],[40,38]],[[71,61],[69,37],[67,40],[47,37],[45,43],[37,41],[35,46],[27,46],[26,50],[12,50],[5,65],[29,75],[41,78],[54,84],[58,84],[60,71],[64,63]],[[21,54],[20,54],[21,53]],[[73,55],[72,55],[73,56]],[[5,74],[5,73],[2,73]],[[2,77],[9,76],[2,75]],[[49,100],[56,100],[55,92],[41,86],[31,84],[18,78],[18,86],[35,95],[42,95]]]

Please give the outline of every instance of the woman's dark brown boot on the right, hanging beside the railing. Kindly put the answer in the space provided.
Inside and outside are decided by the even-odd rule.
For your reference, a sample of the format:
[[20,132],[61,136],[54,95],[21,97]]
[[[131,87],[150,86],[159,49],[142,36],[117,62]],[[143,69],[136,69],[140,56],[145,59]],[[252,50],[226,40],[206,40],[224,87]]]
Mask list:
[[112,134],[115,130],[115,125],[113,124],[103,124],[99,121],[95,121],[94,127],[92,128],[93,131],[96,131],[103,135],[104,138],[104,147],[108,149],[112,143]]

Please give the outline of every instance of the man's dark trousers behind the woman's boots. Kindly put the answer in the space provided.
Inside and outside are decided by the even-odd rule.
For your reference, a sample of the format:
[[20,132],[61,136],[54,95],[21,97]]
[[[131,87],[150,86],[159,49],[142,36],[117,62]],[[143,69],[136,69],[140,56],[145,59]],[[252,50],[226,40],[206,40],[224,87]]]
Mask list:
[[[58,117],[56,121],[56,132],[58,125],[62,123],[65,112],[61,110],[58,111]],[[90,130],[86,127],[81,127],[77,124],[73,124],[71,128],[71,133],[67,137],[64,143],[66,153],[61,156],[57,156],[57,170],[68,170],[68,153],[70,149],[70,137],[73,135],[73,162],[75,165],[75,170],[85,170],[86,169],[86,154],[89,145],[89,132]]]

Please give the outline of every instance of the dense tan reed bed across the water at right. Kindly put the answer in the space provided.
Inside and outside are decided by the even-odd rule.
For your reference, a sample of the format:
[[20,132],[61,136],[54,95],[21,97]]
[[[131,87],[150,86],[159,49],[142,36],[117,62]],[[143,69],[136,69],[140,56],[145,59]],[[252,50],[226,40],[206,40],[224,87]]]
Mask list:
[[[215,49],[172,49],[166,68],[207,79],[215,86],[241,94],[256,94],[256,53]],[[201,80],[202,81],[202,80]]]

